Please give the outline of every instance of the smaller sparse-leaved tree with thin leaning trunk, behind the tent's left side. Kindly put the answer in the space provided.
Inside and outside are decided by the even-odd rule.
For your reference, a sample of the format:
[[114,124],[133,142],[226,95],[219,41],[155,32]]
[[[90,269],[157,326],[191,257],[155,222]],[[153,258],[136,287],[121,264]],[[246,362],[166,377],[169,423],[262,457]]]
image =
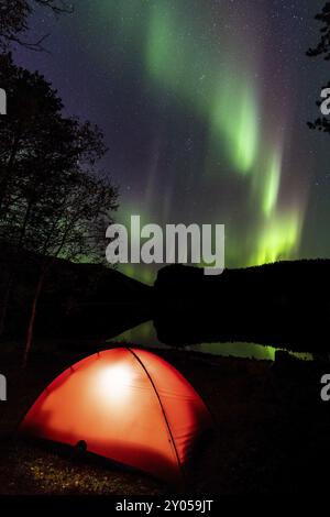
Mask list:
[[117,190],[109,179],[91,177],[77,167],[43,186],[43,198],[34,202],[25,230],[25,249],[38,252],[38,279],[29,320],[24,362],[31,349],[36,306],[46,274],[57,257],[103,262],[106,227],[117,209]]

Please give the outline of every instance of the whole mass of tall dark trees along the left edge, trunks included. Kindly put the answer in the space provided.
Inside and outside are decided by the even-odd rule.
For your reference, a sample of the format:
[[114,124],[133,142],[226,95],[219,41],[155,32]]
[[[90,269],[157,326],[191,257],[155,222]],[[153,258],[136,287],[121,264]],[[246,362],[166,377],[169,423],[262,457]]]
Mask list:
[[11,254],[0,317],[3,322],[22,253],[33,252],[40,275],[26,361],[46,274],[56,257],[103,258],[117,189],[96,167],[107,151],[101,131],[65,118],[56,91],[40,74],[15,66],[11,55],[0,61],[0,82],[10,99],[9,114],[0,119],[0,239]]

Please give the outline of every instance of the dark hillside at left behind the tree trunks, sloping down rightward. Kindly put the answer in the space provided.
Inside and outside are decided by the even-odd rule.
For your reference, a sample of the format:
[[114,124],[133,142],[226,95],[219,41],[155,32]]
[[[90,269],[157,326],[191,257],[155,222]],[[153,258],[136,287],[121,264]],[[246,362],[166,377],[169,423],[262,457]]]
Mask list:
[[[41,260],[42,256],[32,252],[21,255],[3,340],[24,336]],[[2,261],[0,292],[8,268]],[[56,258],[37,308],[35,337],[55,340],[111,338],[151,318],[151,292],[150,286],[113,268]]]

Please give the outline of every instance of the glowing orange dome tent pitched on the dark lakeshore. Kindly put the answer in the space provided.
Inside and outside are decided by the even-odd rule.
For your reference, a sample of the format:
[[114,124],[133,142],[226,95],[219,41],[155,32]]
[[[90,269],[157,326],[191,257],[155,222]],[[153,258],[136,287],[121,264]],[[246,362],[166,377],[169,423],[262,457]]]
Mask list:
[[140,349],[99,352],[62,373],[21,424],[24,435],[76,446],[177,482],[191,448],[211,426],[186,378]]

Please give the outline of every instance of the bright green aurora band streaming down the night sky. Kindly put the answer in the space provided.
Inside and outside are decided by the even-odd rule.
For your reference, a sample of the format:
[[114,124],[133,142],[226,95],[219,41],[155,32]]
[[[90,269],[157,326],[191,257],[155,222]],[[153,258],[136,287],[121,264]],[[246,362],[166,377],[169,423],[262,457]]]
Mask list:
[[[201,2],[193,0],[193,3],[201,9]],[[206,169],[201,172],[204,182],[220,183],[223,175],[243,182],[253,224],[245,240],[235,234],[240,232],[238,224],[229,227],[227,265],[260,265],[295,258],[301,241],[306,196],[299,193],[298,202],[296,197],[290,199],[290,193],[282,196],[286,131],[278,139],[278,128],[272,128],[267,120],[262,101],[266,92],[257,82],[257,56],[252,58],[249,44],[232,41],[228,34],[215,34],[215,40],[219,37],[216,52],[215,45],[202,37],[204,23],[211,23],[211,20],[205,21],[202,16],[196,20],[190,15],[196,9],[187,7],[185,0],[177,3],[168,0],[96,1],[101,26],[108,26],[109,31],[117,28],[113,36],[117,43],[128,46],[132,59],[142,63],[145,84],[148,88],[152,86],[155,101],[164,92],[178,99],[208,128],[208,157],[221,156],[223,162],[226,156],[228,167],[219,173],[208,167],[206,157]],[[148,200],[151,197],[148,188]],[[140,200],[135,213],[143,216],[148,210],[144,201]],[[163,200],[165,204],[170,211],[170,199],[169,204],[168,199]],[[123,202],[124,219],[130,215],[129,208]],[[150,218],[147,222],[156,221]],[[163,220],[164,224],[166,222]],[[227,224],[222,213],[219,219],[218,206],[213,207],[213,221],[209,222]],[[154,276],[154,272],[142,265],[127,265],[123,271],[148,283]]]

